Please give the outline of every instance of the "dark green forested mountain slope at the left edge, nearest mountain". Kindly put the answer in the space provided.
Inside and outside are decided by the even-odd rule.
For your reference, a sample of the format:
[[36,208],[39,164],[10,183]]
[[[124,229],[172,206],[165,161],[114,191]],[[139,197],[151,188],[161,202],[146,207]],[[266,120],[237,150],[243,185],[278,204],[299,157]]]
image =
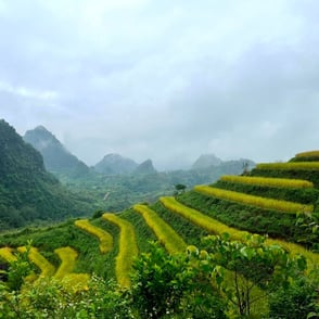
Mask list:
[[46,170],[41,154],[1,119],[0,229],[82,215],[87,209],[87,203]]

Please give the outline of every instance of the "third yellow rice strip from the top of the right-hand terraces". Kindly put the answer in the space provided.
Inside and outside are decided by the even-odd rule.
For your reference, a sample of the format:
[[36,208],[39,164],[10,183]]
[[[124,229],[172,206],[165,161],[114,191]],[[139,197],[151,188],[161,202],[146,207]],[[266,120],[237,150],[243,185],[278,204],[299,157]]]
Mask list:
[[254,186],[266,186],[273,188],[312,188],[314,183],[308,180],[289,179],[289,178],[272,178],[272,177],[250,177],[224,175],[220,180],[232,183],[244,183]]

